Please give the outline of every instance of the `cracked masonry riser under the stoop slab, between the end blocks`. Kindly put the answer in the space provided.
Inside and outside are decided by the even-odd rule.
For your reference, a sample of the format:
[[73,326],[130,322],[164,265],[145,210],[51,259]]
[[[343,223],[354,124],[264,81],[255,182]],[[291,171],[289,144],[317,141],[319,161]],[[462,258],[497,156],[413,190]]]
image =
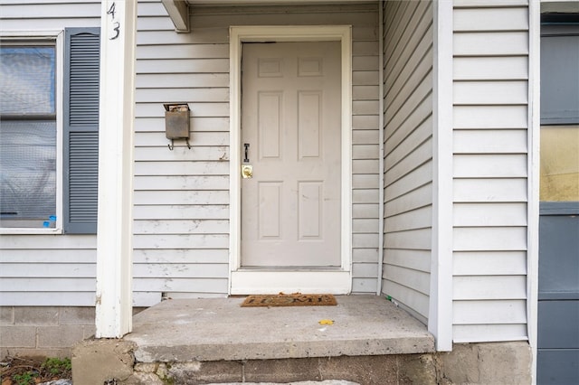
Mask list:
[[[346,380],[356,384],[436,383],[430,358],[403,356],[358,356],[255,360],[248,362],[177,362],[152,367],[137,364],[127,384],[170,379],[178,384],[206,383],[296,383],[299,381]],[[156,382],[163,383],[163,382]],[[323,382],[322,382],[323,383]],[[326,382],[327,383],[327,382]]]

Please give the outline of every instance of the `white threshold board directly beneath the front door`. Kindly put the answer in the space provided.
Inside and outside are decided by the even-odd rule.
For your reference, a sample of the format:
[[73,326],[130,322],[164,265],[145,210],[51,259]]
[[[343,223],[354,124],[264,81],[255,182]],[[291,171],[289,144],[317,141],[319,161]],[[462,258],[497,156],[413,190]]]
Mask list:
[[350,294],[351,272],[327,270],[247,270],[232,272],[232,295],[251,294]]

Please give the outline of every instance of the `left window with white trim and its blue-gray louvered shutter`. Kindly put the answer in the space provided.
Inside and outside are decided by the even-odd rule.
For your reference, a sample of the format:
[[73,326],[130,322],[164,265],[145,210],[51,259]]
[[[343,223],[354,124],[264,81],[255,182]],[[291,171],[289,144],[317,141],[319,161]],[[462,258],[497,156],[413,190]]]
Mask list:
[[0,230],[95,233],[98,28],[0,35]]

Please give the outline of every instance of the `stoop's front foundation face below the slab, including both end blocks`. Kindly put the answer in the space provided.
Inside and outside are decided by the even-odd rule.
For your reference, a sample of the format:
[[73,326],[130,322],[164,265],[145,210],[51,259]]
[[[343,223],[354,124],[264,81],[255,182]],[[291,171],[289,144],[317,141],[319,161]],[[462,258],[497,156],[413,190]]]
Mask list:
[[529,384],[528,343],[456,344],[452,352],[215,362],[135,362],[134,343],[92,340],[72,354],[75,385]]

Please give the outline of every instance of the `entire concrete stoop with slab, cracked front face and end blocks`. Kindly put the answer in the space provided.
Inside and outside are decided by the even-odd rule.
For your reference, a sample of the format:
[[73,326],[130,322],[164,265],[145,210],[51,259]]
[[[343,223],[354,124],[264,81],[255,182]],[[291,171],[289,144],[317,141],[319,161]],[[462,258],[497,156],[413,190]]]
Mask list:
[[133,331],[123,339],[75,345],[72,380],[74,385],[531,382],[527,342],[458,344],[450,353],[435,352],[426,327],[383,297],[337,300],[335,306],[291,308],[242,307],[242,298],[235,297],[167,300],[136,315]]

